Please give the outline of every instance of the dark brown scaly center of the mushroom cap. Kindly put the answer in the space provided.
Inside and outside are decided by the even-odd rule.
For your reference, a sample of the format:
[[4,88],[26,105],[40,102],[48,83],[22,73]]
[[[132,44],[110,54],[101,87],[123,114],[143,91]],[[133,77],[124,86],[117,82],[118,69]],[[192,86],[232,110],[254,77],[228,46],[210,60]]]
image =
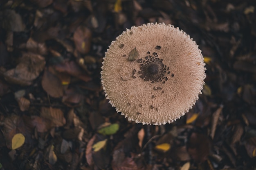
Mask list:
[[[148,52],[148,54],[150,54],[150,52]],[[168,80],[165,74],[169,68],[164,65],[163,59],[158,58],[157,53],[153,52],[153,56],[148,55],[144,57],[144,59],[137,60],[137,62],[141,63],[138,73],[140,74],[139,77],[144,81],[165,83],[165,81]]]

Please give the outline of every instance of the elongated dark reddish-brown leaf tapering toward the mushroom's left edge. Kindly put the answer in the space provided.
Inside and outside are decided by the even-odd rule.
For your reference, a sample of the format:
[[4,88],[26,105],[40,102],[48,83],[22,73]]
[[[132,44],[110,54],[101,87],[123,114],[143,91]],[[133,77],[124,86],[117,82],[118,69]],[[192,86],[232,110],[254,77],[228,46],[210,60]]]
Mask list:
[[70,74],[71,76],[79,78],[85,82],[88,82],[92,79],[90,76],[85,74],[85,72],[83,72],[79,68],[79,65],[74,61],[65,61],[64,63],[55,65],[54,68],[58,72]]

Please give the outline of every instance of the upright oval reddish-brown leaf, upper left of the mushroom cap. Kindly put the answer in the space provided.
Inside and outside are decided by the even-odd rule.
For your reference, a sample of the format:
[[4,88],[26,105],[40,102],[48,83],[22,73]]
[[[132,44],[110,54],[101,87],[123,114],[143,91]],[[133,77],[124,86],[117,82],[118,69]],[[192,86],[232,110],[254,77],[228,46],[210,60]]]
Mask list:
[[92,33],[89,28],[79,26],[74,33],[74,42],[76,50],[82,54],[86,54],[91,48]]

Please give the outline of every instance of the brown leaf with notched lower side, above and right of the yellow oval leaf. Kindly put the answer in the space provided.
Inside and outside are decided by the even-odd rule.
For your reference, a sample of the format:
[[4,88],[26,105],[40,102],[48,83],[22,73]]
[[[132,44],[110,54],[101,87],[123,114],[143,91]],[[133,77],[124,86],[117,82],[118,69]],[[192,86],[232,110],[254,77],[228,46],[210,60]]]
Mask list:
[[51,120],[55,127],[63,126],[66,123],[66,119],[64,118],[64,114],[61,109],[41,107],[40,116]]

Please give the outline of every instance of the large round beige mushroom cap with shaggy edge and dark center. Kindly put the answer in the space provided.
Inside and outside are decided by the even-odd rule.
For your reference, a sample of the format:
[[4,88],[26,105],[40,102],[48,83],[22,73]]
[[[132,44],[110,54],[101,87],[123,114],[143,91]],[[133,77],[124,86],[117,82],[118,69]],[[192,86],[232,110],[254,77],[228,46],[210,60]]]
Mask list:
[[201,50],[173,25],[132,26],[112,41],[103,60],[106,98],[136,123],[171,123],[202,94],[206,69]]

